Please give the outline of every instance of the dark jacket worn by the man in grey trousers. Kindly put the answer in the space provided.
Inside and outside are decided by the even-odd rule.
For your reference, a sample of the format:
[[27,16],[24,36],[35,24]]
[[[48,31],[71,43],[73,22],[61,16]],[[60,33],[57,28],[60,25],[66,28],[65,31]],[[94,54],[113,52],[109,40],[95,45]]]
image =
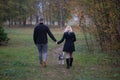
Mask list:
[[55,37],[49,30],[49,28],[44,25],[43,23],[40,23],[38,26],[34,29],[33,39],[35,44],[46,44],[48,43],[47,34],[50,36],[50,38],[53,41],[56,41]]

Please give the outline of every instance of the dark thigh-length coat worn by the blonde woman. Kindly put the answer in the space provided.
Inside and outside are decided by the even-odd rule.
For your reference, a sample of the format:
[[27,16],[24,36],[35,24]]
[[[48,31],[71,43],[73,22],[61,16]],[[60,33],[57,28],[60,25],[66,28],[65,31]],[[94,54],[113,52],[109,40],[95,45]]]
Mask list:
[[63,51],[65,52],[73,52],[75,51],[74,42],[76,41],[75,33],[74,32],[65,32],[63,37],[58,44],[62,43],[65,40],[65,44],[63,47]]

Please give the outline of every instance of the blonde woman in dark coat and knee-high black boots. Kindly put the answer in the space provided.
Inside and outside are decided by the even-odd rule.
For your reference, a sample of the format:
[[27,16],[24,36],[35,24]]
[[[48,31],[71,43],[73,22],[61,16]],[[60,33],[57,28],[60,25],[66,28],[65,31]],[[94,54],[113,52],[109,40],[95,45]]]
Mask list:
[[76,41],[75,33],[72,31],[72,28],[70,26],[66,27],[62,39],[58,41],[57,44],[62,43],[64,40],[65,44],[63,47],[63,51],[66,53],[67,69],[69,69],[72,66],[72,53],[73,51],[75,51],[74,42]]

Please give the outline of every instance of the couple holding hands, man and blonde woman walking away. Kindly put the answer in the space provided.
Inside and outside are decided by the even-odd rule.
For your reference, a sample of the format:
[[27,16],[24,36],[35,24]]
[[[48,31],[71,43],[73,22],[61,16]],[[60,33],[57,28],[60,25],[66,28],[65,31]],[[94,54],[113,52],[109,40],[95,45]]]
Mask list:
[[48,26],[44,25],[44,20],[42,18],[40,19],[40,23],[34,28],[33,40],[38,48],[38,57],[40,64],[42,64],[44,67],[46,67],[48,51],[47,34],[53,41],[56,42],[56,44],[60,44],[65,40],[63,52],[65,52],[66,54],[66,64],[67,69],[69,69],[72,66],[72,53],[73,51],[75,51],[74,42],[76,41],[76,36],[75,33],[72,31],[72,28],[70,26],[67,26],[64,30],[63,37],[60,41],[57,41]]

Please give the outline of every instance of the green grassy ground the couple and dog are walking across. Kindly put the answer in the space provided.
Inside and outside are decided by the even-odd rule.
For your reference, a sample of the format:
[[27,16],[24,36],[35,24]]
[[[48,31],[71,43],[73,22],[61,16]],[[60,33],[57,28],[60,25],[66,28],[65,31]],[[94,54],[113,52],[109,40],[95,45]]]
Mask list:
[[[56,39],[62,37],[61,29],[51,29]],[[38,62],[37,48],[33,43],[33,28],[6,28],[10,38],[7,46],[0,46],[0,80],[119,80],[120,65],[114,66],[119,57],[96,52],[89,54],[84,36],[76,32],[76,52],[70,70],[58,65],[57,53],[63,44],[56,45],[49,39],[48,66]],[[118,58],[118,59],[116,59]]]

